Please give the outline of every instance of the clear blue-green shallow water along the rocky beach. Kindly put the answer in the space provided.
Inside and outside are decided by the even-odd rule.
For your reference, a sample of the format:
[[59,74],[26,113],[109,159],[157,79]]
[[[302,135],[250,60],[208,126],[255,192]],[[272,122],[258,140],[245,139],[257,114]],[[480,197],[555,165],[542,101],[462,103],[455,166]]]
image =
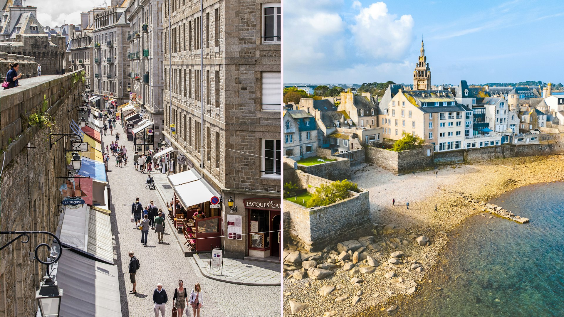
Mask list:
[[438,263],[444,271],[400,300],[397,315],[564,316],[564,183],[518,188],[491,202],[531,221],[467,219],[449,235]]

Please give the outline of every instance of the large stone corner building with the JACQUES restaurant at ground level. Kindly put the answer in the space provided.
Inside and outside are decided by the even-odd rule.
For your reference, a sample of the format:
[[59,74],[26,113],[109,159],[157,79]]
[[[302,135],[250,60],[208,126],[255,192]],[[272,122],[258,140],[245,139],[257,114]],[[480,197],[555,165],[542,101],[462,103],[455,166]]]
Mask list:
[[[223,232],[226,201],[235,201],[243,239],[222,238],[227,257],[279,259],[280,3],[214,0],[201,10],[200,1],[165,1],[164,8],[163,134],[187,158],[174,171],[196,169],[222,196]],[[255,221],[272,231],[265,248],[250,247]]]

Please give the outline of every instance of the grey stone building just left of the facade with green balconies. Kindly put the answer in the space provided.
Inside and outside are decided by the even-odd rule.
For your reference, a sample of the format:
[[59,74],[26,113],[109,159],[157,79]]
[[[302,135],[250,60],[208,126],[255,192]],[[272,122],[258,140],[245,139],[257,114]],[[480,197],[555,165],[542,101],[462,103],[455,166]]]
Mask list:
[[94,11],[94,94],[101,98],[100,107],[116,99],[121,105],[129,101],[127,83],[130,64],[127,60],[127,34],[130,0],[112,0],[108,8]]

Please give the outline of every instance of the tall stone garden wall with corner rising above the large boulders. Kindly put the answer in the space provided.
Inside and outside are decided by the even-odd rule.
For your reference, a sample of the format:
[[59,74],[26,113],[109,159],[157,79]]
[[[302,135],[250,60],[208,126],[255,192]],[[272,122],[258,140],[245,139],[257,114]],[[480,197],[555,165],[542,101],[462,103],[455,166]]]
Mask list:
[[[296,170],[294,173],[298,186],[307,188],[310,193],[322,183],[332,183],[331,180],[301,170]],[[316,208],[305,208],[295,202],[284,200],[285,239],[291,237],[303,244],[304,248],[316,252],[325,246],[355,239],[359,235],[369,235],[372,221],[368,191],[362,188],[359,190],[359,193],[350,191],[348,199]]]

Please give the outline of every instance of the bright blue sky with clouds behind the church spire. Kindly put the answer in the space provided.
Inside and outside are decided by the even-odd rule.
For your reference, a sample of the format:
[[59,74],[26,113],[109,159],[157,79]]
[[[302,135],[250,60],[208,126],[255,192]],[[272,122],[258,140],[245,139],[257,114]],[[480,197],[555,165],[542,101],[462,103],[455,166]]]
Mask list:
[[284,0],[284,82],[564,82],[564,1]]

